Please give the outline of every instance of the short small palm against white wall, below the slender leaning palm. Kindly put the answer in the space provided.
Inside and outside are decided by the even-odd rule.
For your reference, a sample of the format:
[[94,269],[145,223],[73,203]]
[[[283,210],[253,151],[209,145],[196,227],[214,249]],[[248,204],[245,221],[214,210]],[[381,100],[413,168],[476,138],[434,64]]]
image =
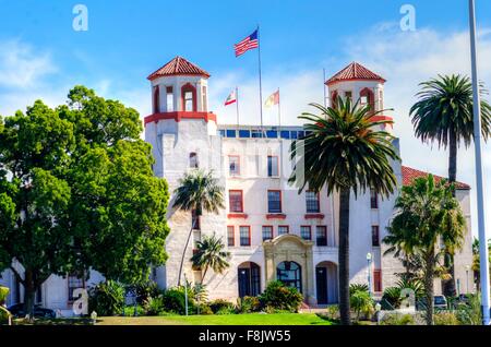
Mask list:
[[194,267],[203,270],[201,283],[204,283],[204,277],[208,268],[215,273],[223,274],[224,271],[230,266],[227,259],[230,252],[224,251],[225,244],[221,238],[213,236],[205,236],[202,241],[196,242],[196,252],[191,258]]

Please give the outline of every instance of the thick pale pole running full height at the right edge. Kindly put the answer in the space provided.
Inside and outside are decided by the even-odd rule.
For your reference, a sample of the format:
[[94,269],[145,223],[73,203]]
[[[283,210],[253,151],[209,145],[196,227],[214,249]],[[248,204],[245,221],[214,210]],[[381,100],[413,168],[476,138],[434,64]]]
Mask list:
[[482,323],[490,325],[490,292],[489,292],[489,252],[488,239],[486,235],[486,208],[484,208],[484,182],[482,169],[482,145],[481,145],[481,103],[479,95],[479,80],[477,69],[477,43],[476,43],[476,5],[474,0],[469,0],[469,25],[470,25],[470,56],[472,63],[472,92],[474,92],[474,143],[476,147],[476,191],[478,205],[478,228],[479,228],[479,260],[481,277],[481,307]]

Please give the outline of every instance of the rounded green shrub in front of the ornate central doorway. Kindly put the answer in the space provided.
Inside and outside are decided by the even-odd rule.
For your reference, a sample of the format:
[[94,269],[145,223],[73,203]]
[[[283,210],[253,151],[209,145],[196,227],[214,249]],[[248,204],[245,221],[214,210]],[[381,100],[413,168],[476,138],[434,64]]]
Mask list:
[[266,290],[260,296],[263,307],[271,307],[275,310],[285,310],[288,312],[298,312],[303,301],[303,296],[297,288],[287,287],[279,280],[271,282]]

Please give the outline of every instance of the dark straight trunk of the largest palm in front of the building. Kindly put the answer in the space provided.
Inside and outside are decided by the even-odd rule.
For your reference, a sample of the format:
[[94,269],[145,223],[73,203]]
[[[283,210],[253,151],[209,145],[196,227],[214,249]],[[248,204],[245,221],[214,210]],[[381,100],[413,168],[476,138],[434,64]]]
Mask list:
[[349,308],[349,193],[350,189],[339,192],[339,315],[343,325],[351,325]]

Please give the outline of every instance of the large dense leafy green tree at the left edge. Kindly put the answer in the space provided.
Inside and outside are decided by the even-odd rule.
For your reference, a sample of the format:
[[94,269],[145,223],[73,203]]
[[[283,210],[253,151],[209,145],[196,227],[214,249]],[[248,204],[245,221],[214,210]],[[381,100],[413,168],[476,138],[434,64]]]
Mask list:
[[51,274],[133,282],[165,262],[167,183],[134,109],[76,86],[0,129],[0,271],[24,286],[26,312]]

